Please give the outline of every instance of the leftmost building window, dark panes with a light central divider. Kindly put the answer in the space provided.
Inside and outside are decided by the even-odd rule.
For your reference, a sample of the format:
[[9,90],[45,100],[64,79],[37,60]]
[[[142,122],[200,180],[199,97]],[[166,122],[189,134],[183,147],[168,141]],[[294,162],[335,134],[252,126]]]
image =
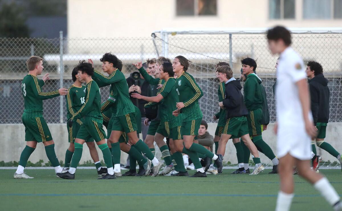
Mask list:
[[217,15],[217,0],[176,0],[176,15]]

